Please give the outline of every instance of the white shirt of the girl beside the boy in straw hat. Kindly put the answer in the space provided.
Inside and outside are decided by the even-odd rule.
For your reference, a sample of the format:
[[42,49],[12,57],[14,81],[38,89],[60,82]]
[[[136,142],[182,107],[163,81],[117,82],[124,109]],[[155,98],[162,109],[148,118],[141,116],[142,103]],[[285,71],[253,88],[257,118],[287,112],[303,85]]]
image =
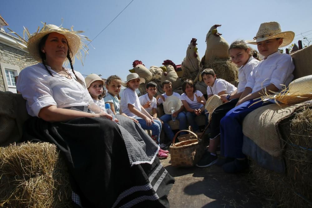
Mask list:
[[237,85],[237,93],[241,93],[245,90],[245,86],[247,84],[247,80],[251,75],[253,68],[259,63],[260,61],[255,59],[253,56],[250,56],[247,63],[241,66],[238,69],[238,85]]

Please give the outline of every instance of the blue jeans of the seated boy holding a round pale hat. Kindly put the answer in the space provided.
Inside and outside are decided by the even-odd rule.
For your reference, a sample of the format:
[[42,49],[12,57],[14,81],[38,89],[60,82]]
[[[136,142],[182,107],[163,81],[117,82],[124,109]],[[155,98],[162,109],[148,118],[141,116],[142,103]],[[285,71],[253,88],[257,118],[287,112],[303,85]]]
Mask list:
[[[163,121],[163,130],[166,133],[167,137],[170,139],[170,141],[173,140],[174,134],[172,129],[170,128],[168,121],[171,121],[171,115],[169,114],[164,114],[162,115],[160,118],[160,120]],[[186,115],[185,112],[180,112],[176,118],[177,120],[179,120],[179,128],[180,130],[185,130],[187,129],[186,127]],[[186,134],[186,132],[181,132],[180,135]]]

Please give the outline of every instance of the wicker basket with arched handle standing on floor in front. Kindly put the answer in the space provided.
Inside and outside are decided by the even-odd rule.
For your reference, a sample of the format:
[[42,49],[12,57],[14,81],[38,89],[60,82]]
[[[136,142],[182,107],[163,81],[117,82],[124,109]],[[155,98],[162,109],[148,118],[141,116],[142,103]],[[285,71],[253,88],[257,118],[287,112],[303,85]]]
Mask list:
[[[194,134],[195,139],[174,143],[178,134],[183,131]],[[192,167],[200,160],[203,153],[202,140],[198,139],[197,135],[189,130],[181,130],[176,133],[170,146],[171,163],[175,167]]]

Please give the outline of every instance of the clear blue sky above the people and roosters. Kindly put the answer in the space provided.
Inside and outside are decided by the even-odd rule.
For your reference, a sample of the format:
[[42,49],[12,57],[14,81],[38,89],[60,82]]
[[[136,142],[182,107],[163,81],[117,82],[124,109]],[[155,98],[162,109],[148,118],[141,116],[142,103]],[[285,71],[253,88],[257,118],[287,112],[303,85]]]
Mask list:
[[[0,15],[20,35],[23,26],[32,33],[42,26],[41,21],[61,25],[63,18],[63,27],[73,25],[93,39],[129,2],[2,0]],[[74,69],[84,75],[102,74],[102,78],[116,74],[125,80],[134,60],[142,60],[147,68],[160,66],[166,59],[178,65],[192,38],[197,38],[200,57],[204,55],[206,34],[214,24],[222,25],[218,31],[229,43],[252,39],[260,24],[269,21],[279,22],[282,31],[294,31],[299,38],[300,33],[312,30],[311,7],[312,1],[301,0],[134,0],[91,43],[94,48],[89,45],[84,66],[76,61]],[[310,33],[303,35],[312,38]]]

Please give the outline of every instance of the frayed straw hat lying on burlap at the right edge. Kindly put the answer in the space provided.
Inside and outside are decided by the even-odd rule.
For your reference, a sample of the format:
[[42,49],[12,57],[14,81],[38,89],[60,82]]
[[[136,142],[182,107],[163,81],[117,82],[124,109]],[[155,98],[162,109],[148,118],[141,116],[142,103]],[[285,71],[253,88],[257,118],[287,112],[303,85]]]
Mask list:
[[[305,102],[312,99],[312,75],[300,77],[292,82],[290,82],[288,88],[284,85],[285,89],[281,92],[270,91],[264,92],[261,95],[260,101],[269,101],[274,99],[275,103],[280,104],[296,104]],[[258,99],[258,98],[257,98]],[[254,104],[256,104],[255,102]]]

